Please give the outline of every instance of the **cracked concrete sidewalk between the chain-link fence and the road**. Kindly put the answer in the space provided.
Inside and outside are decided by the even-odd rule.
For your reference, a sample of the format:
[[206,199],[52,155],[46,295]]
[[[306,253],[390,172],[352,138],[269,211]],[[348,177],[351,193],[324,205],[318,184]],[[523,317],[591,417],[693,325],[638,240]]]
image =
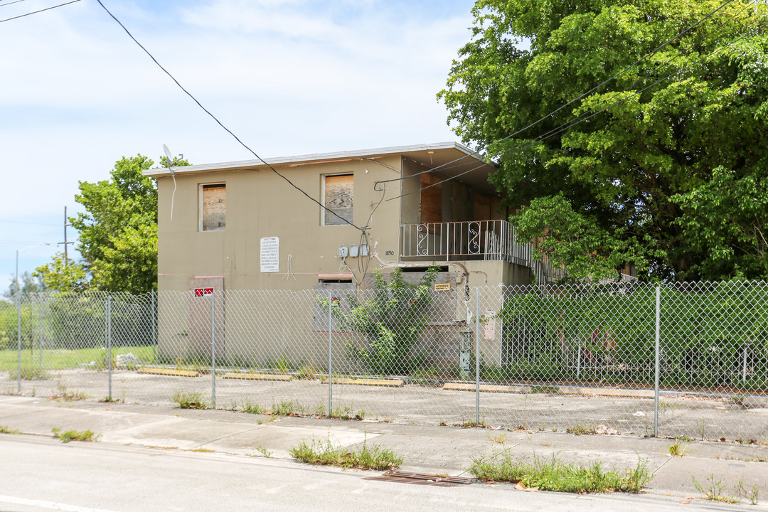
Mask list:
[[756,487],[760,497],[757,508],[768,504],[765,445],[689,441],[684,457],[670,457],[669,447],[675,442],[670,439],[284,418],[84,401],[58,403],[8,395],[0,395],[0,425],[22,434],[51,436],[53,428],[91,430],[101,434],[102,443],[250,456],[270,453],[278,458],[290,458],[290,448],[305,440],[330,441],[343,447],[367,442],[403,457],[402,471],[452,476],[470,476],[466,470],[473,457],[502,451],[520,460],[548,460],[554,455],[560,461],[599,461],[605,468],[621,469],[634,468],[641,457],[655,474],[646,488],[650,494],[680,500],[700,498],[702,493],[692,479],[695,477],[705,488],[710,487],[711,479],[722,482],[723,494],[736,495],[734,487],[739,484],[746,491]]

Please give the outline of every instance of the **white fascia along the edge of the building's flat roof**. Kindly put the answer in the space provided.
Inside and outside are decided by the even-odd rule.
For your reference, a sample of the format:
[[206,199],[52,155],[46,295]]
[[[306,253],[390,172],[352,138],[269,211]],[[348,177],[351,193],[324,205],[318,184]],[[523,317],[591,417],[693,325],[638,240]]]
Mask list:
[[[316,153],[299,155],[295,157],[270,157],[262,160],[238,160],[236,162],[220,162],[217,164],[199,164],[199,165],[187,165],[182,167],[174,167],[174,173],[187,174],[187,173],[204,173],[207,171],[220,171],[220,170],[233,170],[243,169],[244,167],[259,167],[266,164],[270,165],[283,165],[283,164],[297,164],[301,162],[310,161],[322,161],[322,160],[339,160],[343,158],[365,158],[373,157],[376,155],[384,154],[400,154],[409,153],[411,151],[431,151],[431,150],[449,150],[455,149],[468,156],[478,160],[484,164],[488,164],[479,154],[470,150],[463,144],[458,142],[439,142],[435,144],[415,144],[412,146],[393,146],[393,147],[377,147],[368,150],[357,151],[339,151],[336,153]],[[488,164],[493,166],[493,164]],[[167,167],[158,167],[157,169],[148,169],[142,172],[147,177],[164,177],[170,176]]]

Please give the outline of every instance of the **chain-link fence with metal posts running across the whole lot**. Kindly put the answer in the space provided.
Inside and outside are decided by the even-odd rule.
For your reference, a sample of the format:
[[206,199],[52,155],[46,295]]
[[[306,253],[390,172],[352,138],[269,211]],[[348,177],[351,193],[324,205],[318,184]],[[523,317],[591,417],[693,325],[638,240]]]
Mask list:
[[0,391],[768,443],[765,282],[436,288],[18,295]]

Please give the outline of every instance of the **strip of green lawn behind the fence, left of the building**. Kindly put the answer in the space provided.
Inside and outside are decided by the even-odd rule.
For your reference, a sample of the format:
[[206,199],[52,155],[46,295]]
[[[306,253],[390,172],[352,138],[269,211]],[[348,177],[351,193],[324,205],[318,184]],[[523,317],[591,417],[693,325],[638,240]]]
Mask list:
[[[112,357],[116,358],[118,354],[131,354],[141,359],[142,362],[153,362],[154,355],[151,346],[128,346],[112,348]],[[106,361],[106,351],[99,348],[78,348],[69,350],[67,348],[43,349],[42,367],[48,370],[63,370],[66,368],[79,368],[80,365],[91,361],[100,365]],[[28,348],[22,350],[22,366],[31,366],[40,364],[40,351],[35,349],[34,353]],[[0,350],[0,370],[8,371],[16,368],[18,365],[18,352],[16,350]]]

